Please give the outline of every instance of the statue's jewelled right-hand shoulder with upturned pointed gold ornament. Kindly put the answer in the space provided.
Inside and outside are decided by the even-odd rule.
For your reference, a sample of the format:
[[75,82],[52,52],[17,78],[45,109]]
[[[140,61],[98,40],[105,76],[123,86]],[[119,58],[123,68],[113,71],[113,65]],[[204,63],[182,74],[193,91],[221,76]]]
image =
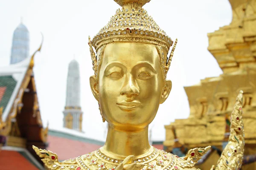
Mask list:
[[210,149],[210,146],[190,149],[184,157],[179,157],[172,153],[168,153],[167,156],[172,160],[170,166],[173,167],[173,170],[198,170],[195,168],[195,164],[197,164],[202,156]]

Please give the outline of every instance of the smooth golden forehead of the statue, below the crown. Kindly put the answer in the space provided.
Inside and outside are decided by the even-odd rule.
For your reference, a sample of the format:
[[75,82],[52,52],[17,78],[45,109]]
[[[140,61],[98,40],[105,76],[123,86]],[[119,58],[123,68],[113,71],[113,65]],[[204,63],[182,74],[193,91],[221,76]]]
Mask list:
[[147,61],[155,63],[159,54],[155,45],[136,42],[117,42],[107,44],[103,51],[105,62],[124,61],[128,63]]

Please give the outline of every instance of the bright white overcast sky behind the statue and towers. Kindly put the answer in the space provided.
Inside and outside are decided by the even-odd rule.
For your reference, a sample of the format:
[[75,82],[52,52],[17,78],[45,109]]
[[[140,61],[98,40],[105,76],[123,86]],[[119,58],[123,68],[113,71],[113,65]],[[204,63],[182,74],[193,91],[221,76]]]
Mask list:
[[[34,67],[44,125],[49,120],[50,128],[63,126],[67,68],[75,54],[80,64],[83,130],[87,136],[104,140],[106,125],[101,122],[98,104],[90,91],[93,70],[87,42],[88,36],[97,34],[117,8],[113,0],[0,0],[0,66],[9,65],[12,35],[20,17],[30,32],[30,54],[40,45],[40,32],[44,34]],[[151,0],[144,8],[173,40],[178,38],[167,75],[173,88],[153,122],[152,137],[159,141],[165,139],[164,125],[189,116],[183,86],[222,73],[207,51],[207,33],[228,25],[232,11],[228,0]]]

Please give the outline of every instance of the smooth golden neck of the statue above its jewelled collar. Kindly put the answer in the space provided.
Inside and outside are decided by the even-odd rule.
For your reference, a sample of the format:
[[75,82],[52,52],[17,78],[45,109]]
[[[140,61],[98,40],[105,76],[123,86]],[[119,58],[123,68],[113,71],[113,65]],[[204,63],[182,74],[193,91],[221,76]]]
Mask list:
[[148,127],[140,131],[122,131],[108,125],[108,136],[100,151],[115,159],[125,159],[133,155],[141,157],[149,155],[154,148],[148,143]]

